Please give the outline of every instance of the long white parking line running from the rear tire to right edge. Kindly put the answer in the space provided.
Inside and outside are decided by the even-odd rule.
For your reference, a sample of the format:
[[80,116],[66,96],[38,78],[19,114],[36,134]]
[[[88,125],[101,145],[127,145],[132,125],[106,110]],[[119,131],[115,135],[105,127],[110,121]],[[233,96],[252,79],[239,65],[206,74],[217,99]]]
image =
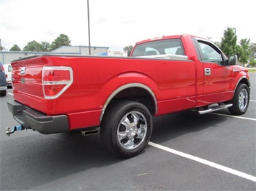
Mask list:
[[174,149],[170,149],[170,148],[168,148],[168,147],[166,147],[166,146],[162,146],[162,145],[160,145],[160,144],[155,144],[155,143],[153,143],[153,142],[149,142],[149,145],[150,145],[150,146],[154,146],[154,147],[156,147],[156,148],[158,148],[158,149],[162,149],[162,150],[164,150],[164,151],[166,151],[166,152],[170,152],[170,153],[172,153],[172,154],[177,154],[177,155],[179,155],[180,157],[185,157],[185,158],[191,159],[191,160],[193,160],[193,161],[195,161],[195,162],[200,162],[201,164],[206,164],[206,165],[208,165],[208,166],[210,166],[210,167],[213,167],[213,168],[216,168],[216,169],[221,169],[221,170],[224,171],[224,172],[229,172],[230,174],[237,175],[238,177],[242,177],[242,178],[244,178],[244,179],[247,179],[247,180],[251,180],[251,181],[253,181],[253,182],[256,182],[256,177],[254,177],[254,176],[252,176],[252,175],[250,175],[250,174],[246,174],[246,173],[244,173],[244,172],[239,172],[239,171],[237,171],[237,170],[235,170],[235,169],[231,169],[231,168],[229,168],[229,167],[224,167],[224,166],[222,166],[222,165],[220,165],[220,164],[216,164],[216,163],[214,163],[214,162],[210,162],[210,161],[205,160],[205,159],[200,159],[199,157],[195,157],[195,156],[193,156],[193,155],[186,154],[186,153],[184,153],[184,152],[178,152],[178,151],[176,151],[176,150],[174,150]]

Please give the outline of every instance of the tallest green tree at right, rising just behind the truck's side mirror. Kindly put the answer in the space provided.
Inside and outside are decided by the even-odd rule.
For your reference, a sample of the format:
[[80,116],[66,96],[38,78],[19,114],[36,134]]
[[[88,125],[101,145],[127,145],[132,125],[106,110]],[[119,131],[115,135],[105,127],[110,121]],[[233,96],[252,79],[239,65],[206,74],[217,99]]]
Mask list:
[[227,27],[224,31],[224,37],[221,38],[221,50],[227,55],[237,55],[239,46],[237,45],[237,35],[234,34],[234,29]]

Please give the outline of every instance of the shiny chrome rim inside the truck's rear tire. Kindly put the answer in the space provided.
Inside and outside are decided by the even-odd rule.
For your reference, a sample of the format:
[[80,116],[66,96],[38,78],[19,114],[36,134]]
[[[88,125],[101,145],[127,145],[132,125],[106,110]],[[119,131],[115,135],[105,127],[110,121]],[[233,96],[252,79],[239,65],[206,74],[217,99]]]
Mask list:
[[118,142],[123,149],[136,149],[144,142],[147,132],[145,116],[138,111],[127,113],[118,125]]

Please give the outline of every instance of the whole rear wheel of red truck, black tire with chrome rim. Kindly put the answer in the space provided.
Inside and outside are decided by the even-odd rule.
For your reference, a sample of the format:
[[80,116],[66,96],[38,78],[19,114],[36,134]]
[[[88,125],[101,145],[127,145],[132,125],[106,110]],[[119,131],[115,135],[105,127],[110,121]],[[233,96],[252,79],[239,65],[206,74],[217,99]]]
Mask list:
[[141,153],[152,133],[148,108],[134,101],[115,103],[105,111],[100,128],[103,143],[118,157],[129,158]]

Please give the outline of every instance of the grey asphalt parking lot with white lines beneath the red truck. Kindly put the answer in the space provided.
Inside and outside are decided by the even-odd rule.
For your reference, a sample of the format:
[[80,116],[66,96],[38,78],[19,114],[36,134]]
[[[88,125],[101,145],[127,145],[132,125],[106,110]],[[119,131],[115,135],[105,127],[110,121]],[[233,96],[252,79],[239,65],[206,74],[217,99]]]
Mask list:
[[112,156],[99,135],[6,136],[17,125],[9,89],[0,98],[0,190],[256,190],[256,73],[250,78],[247,113],[156,117],[149,146],[131,159]]

